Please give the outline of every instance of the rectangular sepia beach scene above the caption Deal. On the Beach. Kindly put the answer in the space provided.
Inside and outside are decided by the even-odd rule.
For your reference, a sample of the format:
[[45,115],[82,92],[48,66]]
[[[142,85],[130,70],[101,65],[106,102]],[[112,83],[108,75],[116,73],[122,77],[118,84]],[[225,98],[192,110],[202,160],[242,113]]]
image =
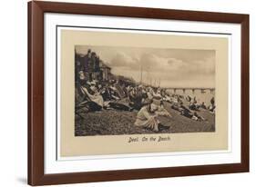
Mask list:
[[215,132],[215,50],[74,50],[75,136]]

